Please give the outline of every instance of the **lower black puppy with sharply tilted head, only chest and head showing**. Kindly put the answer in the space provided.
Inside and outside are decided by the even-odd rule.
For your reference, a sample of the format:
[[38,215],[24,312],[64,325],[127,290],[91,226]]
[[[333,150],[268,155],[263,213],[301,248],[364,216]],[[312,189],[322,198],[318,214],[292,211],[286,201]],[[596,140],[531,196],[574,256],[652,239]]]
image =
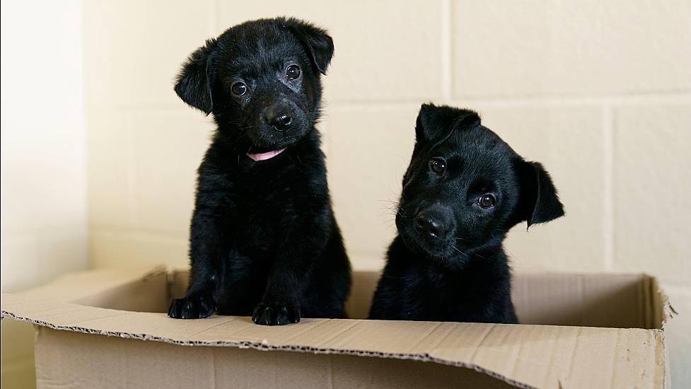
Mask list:
[[423,105],[415,132],[370,318],[517,323],[501,244],[564,215],[550,175],[470,110]]

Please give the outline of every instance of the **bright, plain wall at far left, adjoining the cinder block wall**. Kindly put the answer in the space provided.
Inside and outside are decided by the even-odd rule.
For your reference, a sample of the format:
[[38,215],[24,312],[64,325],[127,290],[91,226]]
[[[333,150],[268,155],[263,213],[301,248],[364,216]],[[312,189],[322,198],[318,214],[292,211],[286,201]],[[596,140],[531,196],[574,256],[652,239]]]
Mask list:
[[[2,291],[86,269],[81,1],[1,6]],[[1,385],[34,382],[33,326],[1,325]]]

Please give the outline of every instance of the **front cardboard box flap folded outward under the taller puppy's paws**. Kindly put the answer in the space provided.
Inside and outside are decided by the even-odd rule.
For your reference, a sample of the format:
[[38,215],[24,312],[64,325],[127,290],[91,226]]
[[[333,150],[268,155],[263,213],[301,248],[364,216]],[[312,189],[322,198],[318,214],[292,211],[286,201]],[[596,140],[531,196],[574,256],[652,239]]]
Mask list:
[[[3,316],[56,330],[185,346],[240,347],[414,359],[472,368],[519,387],[661,387],[661,330],[304,319],[263,327],[249,318],[171,320],[41,296],[2,294]],[[606,384],[606,383],[609,383]]]

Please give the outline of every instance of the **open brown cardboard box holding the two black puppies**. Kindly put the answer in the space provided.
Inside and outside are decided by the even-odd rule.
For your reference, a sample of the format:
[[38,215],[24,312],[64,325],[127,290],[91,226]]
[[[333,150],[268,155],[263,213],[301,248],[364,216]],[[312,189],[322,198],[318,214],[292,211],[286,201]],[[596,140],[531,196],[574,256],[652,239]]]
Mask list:
[[360,320],[280,327],[166,316],[185,272],[98,270],[2,295],[34,323],[39,388],[663,388],[666,296],[645,274],[517,274],[521,325]]

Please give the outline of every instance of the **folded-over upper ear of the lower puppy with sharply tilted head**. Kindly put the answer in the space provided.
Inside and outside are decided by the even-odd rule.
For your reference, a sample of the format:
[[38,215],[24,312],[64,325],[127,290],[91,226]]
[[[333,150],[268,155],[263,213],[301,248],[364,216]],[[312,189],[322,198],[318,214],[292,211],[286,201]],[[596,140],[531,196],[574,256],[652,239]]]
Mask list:
[[417,115],[415,139],[419,142],[445,141],[454,129],[465,129],[480,125],[480,116],[471,110],[460,110],[446,105],[423,104]]

